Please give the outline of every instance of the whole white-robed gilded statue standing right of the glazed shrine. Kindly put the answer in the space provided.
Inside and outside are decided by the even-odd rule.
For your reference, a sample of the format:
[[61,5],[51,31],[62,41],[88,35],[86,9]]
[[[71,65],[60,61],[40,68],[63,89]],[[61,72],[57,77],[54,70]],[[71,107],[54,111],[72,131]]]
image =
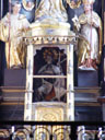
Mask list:
[[[93,11],[95,0],[83,0],[84,13],[74,18],[74,26],[85,38],[79,39],[78,68],[80,70],[97,70],[102,54],[102,21]],[[88,42],[85,42],[88,40]]]

